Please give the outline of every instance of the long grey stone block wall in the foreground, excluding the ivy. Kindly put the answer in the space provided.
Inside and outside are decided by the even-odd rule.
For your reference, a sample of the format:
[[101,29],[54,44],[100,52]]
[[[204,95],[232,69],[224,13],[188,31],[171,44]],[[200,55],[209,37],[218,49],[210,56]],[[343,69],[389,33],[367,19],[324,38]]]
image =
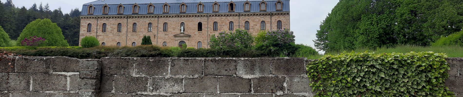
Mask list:
[[[0,97],[312,97],[305,58],[17,57]],[[446,86],[463,97],[463,58]]]

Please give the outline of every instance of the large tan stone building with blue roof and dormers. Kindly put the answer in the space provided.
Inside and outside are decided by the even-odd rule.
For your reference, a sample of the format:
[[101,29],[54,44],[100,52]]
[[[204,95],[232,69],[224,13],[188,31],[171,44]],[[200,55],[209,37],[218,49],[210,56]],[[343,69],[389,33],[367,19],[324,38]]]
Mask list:
[[149,35],[157,46],[209,48],[221,31],[290,27],[289,0],[97,0],[80,18],[80,39],[95,36],[103,46],[138,46]]

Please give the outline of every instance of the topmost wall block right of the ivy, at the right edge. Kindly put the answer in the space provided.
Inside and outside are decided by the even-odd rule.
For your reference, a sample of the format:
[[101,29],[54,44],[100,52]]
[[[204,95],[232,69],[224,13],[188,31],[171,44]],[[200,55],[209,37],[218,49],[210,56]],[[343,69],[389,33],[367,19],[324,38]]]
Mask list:
[[450,70],[449,75],[462,75],[463,72],[463,58],[462,57],[453,57],[446,58],[447,63],[449,63]]

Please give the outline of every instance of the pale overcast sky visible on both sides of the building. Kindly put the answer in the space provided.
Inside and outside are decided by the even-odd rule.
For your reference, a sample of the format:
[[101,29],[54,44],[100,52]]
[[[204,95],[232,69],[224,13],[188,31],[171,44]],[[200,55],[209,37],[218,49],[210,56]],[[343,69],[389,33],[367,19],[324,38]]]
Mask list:
[[[2,0],[5,2],[6,0]],[[50,10],[61,7],[64,13],[71,9],[82,9],[82,4],[95,0],[13,0],[13,4],[18,7],[25,6],[30,8],[32,4],[40,2],[45,5],[50,4]],[[291,0],[291,30],[296,35],[296,43],[313,46],[313,41],[317,39],[315,34],[319,30],[320,23],[325,20],[339,0]]]

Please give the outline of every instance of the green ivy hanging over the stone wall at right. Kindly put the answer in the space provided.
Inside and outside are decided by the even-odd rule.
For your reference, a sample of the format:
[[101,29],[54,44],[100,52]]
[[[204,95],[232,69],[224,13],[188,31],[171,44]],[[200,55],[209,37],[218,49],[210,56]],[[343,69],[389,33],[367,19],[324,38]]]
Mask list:
[[307,64],[315,97],[453,97],[444,53],[341,53]]

